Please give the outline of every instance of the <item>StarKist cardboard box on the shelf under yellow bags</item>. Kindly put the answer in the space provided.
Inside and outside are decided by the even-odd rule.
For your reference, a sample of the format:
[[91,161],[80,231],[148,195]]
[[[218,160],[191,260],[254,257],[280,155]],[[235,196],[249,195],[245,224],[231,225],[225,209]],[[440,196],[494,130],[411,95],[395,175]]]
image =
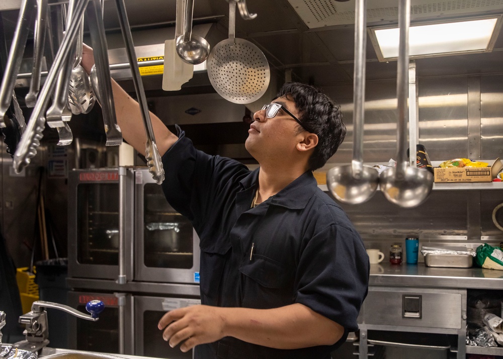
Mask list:
[[502,168],[499,158],[490,167],[435,167],[435,182],[492,182]]

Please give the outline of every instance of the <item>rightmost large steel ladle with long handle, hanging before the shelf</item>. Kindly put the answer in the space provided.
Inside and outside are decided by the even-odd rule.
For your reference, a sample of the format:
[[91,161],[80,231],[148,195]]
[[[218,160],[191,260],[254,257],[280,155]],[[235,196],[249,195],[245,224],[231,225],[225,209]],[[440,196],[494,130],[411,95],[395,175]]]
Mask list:
[[[380,177],[381,191],[386,199],[400,207],[422,204],[433,188],[433,174],[417,167],[410,167],[405,156],[407,144],[407,93],[408,93],[408,32],[410,26],[410,0],[400,0],[398,7],[400,40],[396,93],[398,99],[396,167],[385,169]],[[413,155],[413,152],[411,153]]]

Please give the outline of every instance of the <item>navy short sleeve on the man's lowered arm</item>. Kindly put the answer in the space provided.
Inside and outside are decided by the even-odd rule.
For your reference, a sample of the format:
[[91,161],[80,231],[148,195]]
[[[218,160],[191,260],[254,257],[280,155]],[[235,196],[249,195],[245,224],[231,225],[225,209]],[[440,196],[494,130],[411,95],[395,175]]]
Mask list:
[[369,271],[360,237],[344,227],[330,225],[311,238],[302,253],[295,302],[355,331],[368,291]]

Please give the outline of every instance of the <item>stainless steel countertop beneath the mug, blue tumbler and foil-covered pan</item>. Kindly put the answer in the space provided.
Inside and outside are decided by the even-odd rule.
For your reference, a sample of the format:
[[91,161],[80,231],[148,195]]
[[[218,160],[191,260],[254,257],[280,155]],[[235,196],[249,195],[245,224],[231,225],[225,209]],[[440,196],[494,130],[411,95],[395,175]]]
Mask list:
[[407,286],[432,288],[503,288],[503,271],[484,268],[427,267],[425,263],[370,265],[371,286]]

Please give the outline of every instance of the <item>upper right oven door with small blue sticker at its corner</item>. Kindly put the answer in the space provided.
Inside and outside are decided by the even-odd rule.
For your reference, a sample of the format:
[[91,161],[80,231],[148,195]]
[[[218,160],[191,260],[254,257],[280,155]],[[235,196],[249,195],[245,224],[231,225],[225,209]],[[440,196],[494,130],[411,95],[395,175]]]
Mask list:
[[135,270],[140,282],[199,283],[199,237],[147,169],[134,171]]

